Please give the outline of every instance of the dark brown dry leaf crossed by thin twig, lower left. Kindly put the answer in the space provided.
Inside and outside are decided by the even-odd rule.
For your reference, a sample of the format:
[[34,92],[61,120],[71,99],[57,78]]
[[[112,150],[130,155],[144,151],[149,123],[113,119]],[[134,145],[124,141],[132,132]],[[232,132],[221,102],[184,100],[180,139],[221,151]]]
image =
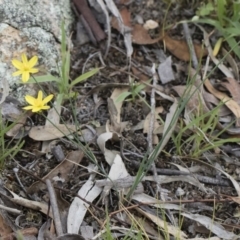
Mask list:
[[[82,151],[72,151],[70,152],[67,157],[58,164],[50,173],[45,175],[42,180],[45,181],[46,179],[52,180],[54,177],[58,177],[60,174],[61,179],[65,181],[68,179],[68,175],[71,172],[72,168],[79,164],[83,158],[84,154]],[[70,160],[70,161],[69,161]],[[34,192],[38,192],[40,189],[43,190],[46,188],[46,184],[43,182],[35,182],[28,188],[28,193],[32,194]]]

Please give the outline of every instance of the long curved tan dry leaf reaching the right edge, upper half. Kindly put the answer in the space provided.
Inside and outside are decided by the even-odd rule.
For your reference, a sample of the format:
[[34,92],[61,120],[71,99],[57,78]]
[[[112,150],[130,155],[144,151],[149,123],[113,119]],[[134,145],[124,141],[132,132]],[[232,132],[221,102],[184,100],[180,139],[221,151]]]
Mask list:
[[220,99],[235,115],[236,117],[236,126],[240,126],[240,106],[237,104],[236,101],[228,97],[225,93],[218,91],[215,89],[210,81],[206,79],[204,81],[204,85],[208,89],[210,93],[212,93],[216,98]]

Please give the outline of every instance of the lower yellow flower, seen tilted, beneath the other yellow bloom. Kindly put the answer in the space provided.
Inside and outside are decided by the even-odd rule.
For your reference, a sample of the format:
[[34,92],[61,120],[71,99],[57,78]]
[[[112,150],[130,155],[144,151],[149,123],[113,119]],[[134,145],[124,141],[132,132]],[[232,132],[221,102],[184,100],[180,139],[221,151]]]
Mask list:
[[38,92],[38,97],[34,98],[30,95],[25,96],[25,100],[30,104],[30,106],[26,106],[23,109],[32,110],[32,112],[39,112],[41,110],[49,109],[50,107],[46,104],[51,101],[53,98],[53,94],[50,94],[46,98],[43,99],[42,91]]

